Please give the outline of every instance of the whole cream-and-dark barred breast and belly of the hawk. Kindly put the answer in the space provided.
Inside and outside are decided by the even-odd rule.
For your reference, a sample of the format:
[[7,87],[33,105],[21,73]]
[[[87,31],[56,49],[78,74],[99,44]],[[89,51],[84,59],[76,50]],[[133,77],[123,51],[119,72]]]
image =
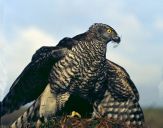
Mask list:
[[78,44],[55,64],[51,77],[54,88],[85,92],[105,77],[105,49],[88,43]]

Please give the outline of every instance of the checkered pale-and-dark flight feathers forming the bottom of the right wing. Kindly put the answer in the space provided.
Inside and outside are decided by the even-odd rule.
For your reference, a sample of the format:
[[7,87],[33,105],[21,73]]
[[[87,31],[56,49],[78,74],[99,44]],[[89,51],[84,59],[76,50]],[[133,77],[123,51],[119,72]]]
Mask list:
[[117,100],[109,92],[106,92],[104,99],[97,105],[93,117],[97,116],[122,121],[127,125],[141,127],[144,124],[144,114],[136,99]]

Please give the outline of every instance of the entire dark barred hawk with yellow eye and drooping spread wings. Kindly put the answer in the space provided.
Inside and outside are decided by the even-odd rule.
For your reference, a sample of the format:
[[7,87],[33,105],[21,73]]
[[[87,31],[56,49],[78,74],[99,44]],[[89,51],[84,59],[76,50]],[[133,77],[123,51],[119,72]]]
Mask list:
[[106,59],[110,41],[120,42],[117,32],[96,23],[55,47],[40,48],[1,102],[0,116],[34,100],[11,127],[25,127],[32,121],[39,127],[57,115],[71,95],[77,95],[93,105],[93,118],[107,116],[142,125],[135,85],[123,68]]

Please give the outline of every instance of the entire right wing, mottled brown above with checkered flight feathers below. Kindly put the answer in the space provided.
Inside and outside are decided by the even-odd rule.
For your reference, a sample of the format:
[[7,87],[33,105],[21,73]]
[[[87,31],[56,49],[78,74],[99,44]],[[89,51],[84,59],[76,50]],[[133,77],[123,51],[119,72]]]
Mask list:
[[139,105],[139,93],[130,76],[125,69],[109,60],[107,68],[108,89],[94,109],[93,116],[141,126],[144,123],[143,111]]

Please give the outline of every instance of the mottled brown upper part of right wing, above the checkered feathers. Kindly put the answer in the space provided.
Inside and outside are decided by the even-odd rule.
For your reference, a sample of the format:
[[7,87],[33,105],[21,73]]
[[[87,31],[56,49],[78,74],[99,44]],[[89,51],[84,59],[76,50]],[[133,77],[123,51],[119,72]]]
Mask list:
[[131,80],[126,70],[108,60],[108,89],[111,94],[120,97],[121,99],[128,99],[129,97],[135,97],[139,100],[138,90]]

